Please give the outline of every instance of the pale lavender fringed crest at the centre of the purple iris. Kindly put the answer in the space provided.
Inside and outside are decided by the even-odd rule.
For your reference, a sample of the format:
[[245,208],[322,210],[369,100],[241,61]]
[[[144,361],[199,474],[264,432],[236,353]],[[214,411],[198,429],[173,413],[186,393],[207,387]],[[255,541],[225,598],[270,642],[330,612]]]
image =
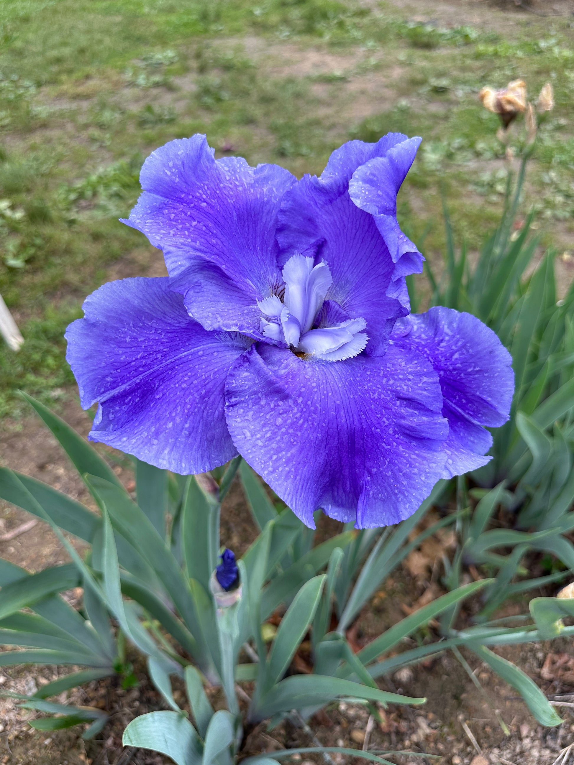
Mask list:
[[283,301],[277,295],[257,301],[264,337],[325,361],[342,361],[364,350],[369,338],[362,331],[367,326],[362,318],[313,329],[333,282],[324,260],[314,265],[312,258],[294,255],[285,263],[282,275]]

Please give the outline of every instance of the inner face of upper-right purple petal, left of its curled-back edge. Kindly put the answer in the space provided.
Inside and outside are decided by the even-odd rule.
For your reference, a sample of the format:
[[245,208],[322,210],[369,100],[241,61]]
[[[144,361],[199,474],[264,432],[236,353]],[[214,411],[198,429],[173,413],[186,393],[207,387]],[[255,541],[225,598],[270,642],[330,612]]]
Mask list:
[[370,340],[365,353],[370,356],[385,352],[394,322],[408,313],[404,275],[420,267],[417,262],[416,268],[397,272],[385,235],[373,216],[351,199],[349,183],[361,165],[405,142],[410,143],[406,135],[390,133],[375,144],[344,144],[333,152],[321,177],[305,175],[286,192],[279,213],[279,262],[315,247],[315,262],[325,259],[333,278],[328,298],[351,318],[367,321]]

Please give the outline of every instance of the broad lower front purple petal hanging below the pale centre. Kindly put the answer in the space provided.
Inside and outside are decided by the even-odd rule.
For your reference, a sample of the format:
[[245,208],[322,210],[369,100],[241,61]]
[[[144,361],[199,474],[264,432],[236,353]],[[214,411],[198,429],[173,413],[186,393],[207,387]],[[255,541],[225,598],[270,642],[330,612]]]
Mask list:
[[448,424],[439,379],[419,353],[304,360],[256,343],[233,364],[233,442],[307,526],[313,512],[386,526],[414,513],[439,479]]

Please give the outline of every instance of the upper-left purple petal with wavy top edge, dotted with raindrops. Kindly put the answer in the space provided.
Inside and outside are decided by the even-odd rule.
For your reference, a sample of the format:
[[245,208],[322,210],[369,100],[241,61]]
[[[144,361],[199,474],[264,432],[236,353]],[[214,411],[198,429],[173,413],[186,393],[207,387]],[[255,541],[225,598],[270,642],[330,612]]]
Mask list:
[[194,135],[156,149],[140,181],[144,193],[124,222],[163,250],[170,275],[199,256],[257,298],[281,283],[275,233],[283,194],[295,182],[289,171],[216,160],[206,137]]

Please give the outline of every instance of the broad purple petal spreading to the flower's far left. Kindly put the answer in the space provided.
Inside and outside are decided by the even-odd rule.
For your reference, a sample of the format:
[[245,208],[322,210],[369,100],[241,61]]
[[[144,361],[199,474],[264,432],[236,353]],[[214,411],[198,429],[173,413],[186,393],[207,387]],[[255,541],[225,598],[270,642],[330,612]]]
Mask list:
[[169,278],[100,287],[67,328],[67,360],[84,409],[99,402],[92,441],[157,467],[203,473],[237,454],[223,413],[236,335],[207,332],[188,316]]

